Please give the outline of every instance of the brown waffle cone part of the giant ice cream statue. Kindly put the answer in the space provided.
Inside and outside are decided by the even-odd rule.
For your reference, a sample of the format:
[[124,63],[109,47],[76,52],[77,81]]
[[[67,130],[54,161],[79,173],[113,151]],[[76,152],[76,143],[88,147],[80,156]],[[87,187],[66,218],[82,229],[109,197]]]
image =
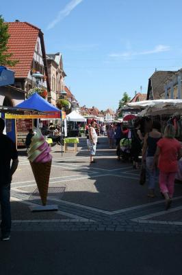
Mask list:
[[42,201],[42,205],[45,206],[47,203],[47,192],[49,187],[49,176],[51,172],[51,162],[29,162],[31,165],[32,172],[36,179],[38,191]]

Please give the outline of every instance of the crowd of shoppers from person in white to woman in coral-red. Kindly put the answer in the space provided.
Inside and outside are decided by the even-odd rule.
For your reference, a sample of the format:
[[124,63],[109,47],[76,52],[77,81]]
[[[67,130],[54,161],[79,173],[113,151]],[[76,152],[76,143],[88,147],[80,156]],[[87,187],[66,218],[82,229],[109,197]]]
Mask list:
[[[99,133],[96,133],[95,128],[100,129]],[[140,159],[142,159],[141,163],[145,163],[148,184],[147,196],[150,198],[156,196],[155,189],[159,182],[161,195],[165,198],[165,207],[168,210],[174,193],[178,159],[182,157],[181,143],[174,138],[174,126],[172,124],[167,125],[164,137],[162,137],[161,125],[158,121],[154,121],[151,126],[148,126],[148,133],[145,135],[142,133],[140,121],[135,122],[133,126],[130,125],[129,128],[122,123],[102,124],[98,127],[94,122],[91,126],[89,125],[89,130],[86,131],[88,148],[90,148],[90,163],[95,162],[93,157],[96,151],[96,135],[105,135],[105,132],[107,133],[109,148],[116,148],[118,159],[121,157],[123,140],[124,142],[130,140],[128,152],[129,159],[133,161],[133,168],[141,168]]]

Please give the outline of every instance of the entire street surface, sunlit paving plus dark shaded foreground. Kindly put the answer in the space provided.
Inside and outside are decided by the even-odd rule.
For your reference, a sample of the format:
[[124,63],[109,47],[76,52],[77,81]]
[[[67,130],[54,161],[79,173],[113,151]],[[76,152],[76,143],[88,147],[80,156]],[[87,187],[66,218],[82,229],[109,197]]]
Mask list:
[[106,137],[99,143],[95,164],[86,139],[77,154],[53,147],[48,204],[58,205],[56,212],[30,212],[40,199],[19,152],[12,239],[0,245],[0,274],[181,274],[182,185],[166,212],[159,190],[149,199],[138,170],[118,162]]

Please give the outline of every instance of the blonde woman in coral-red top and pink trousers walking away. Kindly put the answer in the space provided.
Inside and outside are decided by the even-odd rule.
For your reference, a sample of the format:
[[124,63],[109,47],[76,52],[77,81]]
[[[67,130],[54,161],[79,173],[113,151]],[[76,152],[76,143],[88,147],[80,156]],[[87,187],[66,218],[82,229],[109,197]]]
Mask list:
[[[174,179],[178,170],[178,159],[181,158],[181,144],[175,138],[175,129],[168,124],[164,137],[157,142],[154,163],[159,167],[159,187],[166,199],[166,210],[170,208],[174,193]],[[159,161],[158,161],[159,159]]]

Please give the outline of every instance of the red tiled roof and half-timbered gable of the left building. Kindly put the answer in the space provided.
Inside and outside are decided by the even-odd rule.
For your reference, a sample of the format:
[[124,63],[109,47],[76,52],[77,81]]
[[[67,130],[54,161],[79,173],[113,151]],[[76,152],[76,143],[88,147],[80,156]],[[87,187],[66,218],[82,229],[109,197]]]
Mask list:
[[27,22],[9,22],[8,53],[12,53],[12,60],[18,63],[11,67],[15,72],[14,86],[23,91],[36,87],[36,79],[32,72],[40,72],[46,79],[42,79],[40,86],[50,91],[47,61],[44,47],[44,35],[42,31]]

